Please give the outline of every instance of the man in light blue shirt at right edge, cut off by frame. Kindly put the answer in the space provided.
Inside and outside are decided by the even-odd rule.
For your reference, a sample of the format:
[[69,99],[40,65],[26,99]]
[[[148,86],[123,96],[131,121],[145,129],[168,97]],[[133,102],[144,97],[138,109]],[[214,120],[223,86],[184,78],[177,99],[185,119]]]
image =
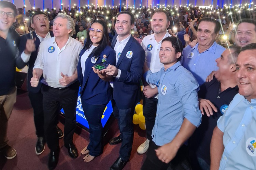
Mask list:
[[211,169],[256,169],[256,44],[241,49],[236,62],[239,87],[217,121],[211,141]]

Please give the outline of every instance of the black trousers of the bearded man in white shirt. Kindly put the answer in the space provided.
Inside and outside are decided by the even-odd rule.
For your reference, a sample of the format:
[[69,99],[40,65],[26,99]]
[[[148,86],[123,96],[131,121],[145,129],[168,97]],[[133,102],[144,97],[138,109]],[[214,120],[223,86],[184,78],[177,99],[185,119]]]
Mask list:
[[156,109],[158,99],[156,98],[146,98],[143,95],[143,115],[145,116],[146,124],[146,135],[147,139],[152,140],[152,130],[155,125],[156,120]]

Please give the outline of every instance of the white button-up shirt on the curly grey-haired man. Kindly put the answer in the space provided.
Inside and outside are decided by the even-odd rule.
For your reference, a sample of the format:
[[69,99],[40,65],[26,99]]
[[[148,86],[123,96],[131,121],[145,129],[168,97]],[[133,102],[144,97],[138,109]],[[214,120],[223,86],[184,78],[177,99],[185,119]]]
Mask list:
[[42,83],[54,87],[62,88],[59,79],[62,78],[60,73],[71,76],[77,69],[79,53],[83,45],[74,38],[69,37],[66,45],[59,49],[55,42],[55,37],[44,40],[38,50],[35,68],[43,70]]

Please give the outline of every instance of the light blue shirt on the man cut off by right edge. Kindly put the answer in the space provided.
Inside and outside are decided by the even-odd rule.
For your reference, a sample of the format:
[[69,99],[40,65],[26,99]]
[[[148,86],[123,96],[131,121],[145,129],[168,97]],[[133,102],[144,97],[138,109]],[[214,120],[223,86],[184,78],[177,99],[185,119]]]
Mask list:
[[256,99],[237,94],[217,126],[225,147],[219,169],[256,169]]

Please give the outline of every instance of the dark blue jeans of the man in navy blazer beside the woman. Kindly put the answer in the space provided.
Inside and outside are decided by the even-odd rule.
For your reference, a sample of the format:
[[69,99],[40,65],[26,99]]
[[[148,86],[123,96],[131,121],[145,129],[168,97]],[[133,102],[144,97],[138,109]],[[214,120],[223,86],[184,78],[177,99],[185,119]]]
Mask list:
[[124,161],[128,161],[131,156],[131,148],[133,142],[133,113],[134,107],[128,109],[119,109],[114,100],[112,102],[114,117],[118,121],[120,138],[123,139],[122,146],[119,150],[119,157]]

